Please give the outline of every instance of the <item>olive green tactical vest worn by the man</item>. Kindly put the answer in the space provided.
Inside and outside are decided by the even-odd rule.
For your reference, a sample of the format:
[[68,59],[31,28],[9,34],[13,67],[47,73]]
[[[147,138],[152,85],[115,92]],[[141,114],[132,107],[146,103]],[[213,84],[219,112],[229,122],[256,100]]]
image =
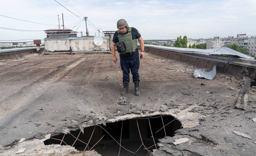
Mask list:
[[126,51],[124,53],[133,53],[137,48],[137,39],[133,39],[132,37],[132,28],[128,27],[127,34],[121,34],[119,30],[117,30],[119,42],[123,41],[126,45]]

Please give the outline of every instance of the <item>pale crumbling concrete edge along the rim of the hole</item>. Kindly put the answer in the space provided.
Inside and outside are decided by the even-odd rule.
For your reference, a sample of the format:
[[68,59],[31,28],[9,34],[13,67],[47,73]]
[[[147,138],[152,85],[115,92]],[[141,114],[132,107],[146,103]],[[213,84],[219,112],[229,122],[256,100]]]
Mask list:
[[[177,110],[175,109],[167,109],[166,112],[147,112],[147,113],[141,113],[141,114],[136,114],[136,113],[129,113],[126,115],[121,115],[121,116],[115,116],[113,118],[108,119],[106,116],[102,117],[92,117],[83,123],[79,124],[78,126],[74,127],[69,127],[69,128],[64,128],[62,131],[55,132],[55,133],[50,133],[50,134],[43,134],[41,137],[43,139],[38,139],[38,138],[32,138],[32,139],[27,139],[22,142],[14,142],[11,145],[8,145],[6,147],[1,147],[0,148],[0,156],[3,155],[12,155],[16,154],[16,152],[19,149],[29,149],[25,150],[22,152],[21,155],[26,155],[26,154],[35,154],[33,152],[42,152],[42,154],[51,154],[53,156],[55,155],[69,155],[69,154],[74,154],[74,156],[78,156],[80,154],[84,154],[86,156],[86,152],[90,152],[90,154],[95,155],[95,156],[100,156],[100,154],[97,154],[96,151],[77,151],[74,147],[71,147],[69,145],[65,146],[60,146],[60,145],[44,145],[44,141],[49,139],[50,136],[54,135],[59,135],[60,133],[70,133],[71,131],[76,131],[80,129],[83,132],[83,128],[89,127],[89,126],[95,126],[97,124],[106,124],[106,123],[112,123],[112,122],[119,122],[127,119],[134,119],[134,118],[141,118],[141,117],[150,117],[150,116],[156,116],[156,115],[170,115],[174,117],[175,119],[179,120],[183,128],[192,128],[194,126],[199,125],[199,118],[202,117],[197,112],[188,112],[187,110],[190,110],[193,106],[190,106],[189,108],[186,108],[184,110],[179,110],[179,113],[177,113]],[[184,113],[182,113],[184,111]],[[185,113],[186,112],[186,113]],[[55,149],[58,150],[55,150]],[[40,150],[38,150],[40,149]],[[90,155],[89,154],[89,155]],[[16,154],[17,155],[17,154]]]

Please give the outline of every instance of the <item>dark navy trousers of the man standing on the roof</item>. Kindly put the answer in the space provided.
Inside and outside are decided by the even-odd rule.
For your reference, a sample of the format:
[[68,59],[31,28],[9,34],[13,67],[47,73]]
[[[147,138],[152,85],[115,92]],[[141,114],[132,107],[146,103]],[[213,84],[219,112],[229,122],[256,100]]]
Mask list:
[[130,71],[133,75],[133,82],[140,81],[140,58],[139,51],[137,49],[133,53],[120,53],[120,65],[123,71],[123,81],[130,82]]

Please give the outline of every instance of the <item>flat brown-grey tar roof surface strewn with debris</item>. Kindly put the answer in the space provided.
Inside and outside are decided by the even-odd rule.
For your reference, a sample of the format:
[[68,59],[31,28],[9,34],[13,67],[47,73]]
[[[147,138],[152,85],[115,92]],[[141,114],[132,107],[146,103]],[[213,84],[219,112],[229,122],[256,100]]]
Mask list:
[[[95,124],[93,119],[100,124],[122,116],[165,113],[184,127],[177,136],[190,139],[190,144],[182,146],[185,150],[202,155],[255,153],[255,88],[249,90],[249,109],[240,110],[235,103],[242,80],[223,73],[217,73],[213,80],[194,78],[197,67],[145,53],[140,60],[140,96],[133,94],[130,82],[124,97],[135,107],[127,108],[117,103],[123,97],[119,60],[115,64],[106,53],[33,54],[2,60],[0,145],[82,124],[90,126]],[[233,131],[246,133],[251,139]],[[210,143],[193,143],[192,138],[201,135]]]

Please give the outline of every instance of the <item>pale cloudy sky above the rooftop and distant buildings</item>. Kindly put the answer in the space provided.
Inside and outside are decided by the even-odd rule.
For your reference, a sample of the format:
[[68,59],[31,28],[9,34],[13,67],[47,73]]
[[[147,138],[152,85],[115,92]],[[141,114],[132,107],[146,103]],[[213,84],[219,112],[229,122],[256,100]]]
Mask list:
[[116,31],[121,18],[144,40],[251,37],[255,10],[256,0],[2,0],[0,42],[43,40],[44,30],[62,29],[63,21],[79,37],[86,35],[86,26],[90,35],[102,36]]

